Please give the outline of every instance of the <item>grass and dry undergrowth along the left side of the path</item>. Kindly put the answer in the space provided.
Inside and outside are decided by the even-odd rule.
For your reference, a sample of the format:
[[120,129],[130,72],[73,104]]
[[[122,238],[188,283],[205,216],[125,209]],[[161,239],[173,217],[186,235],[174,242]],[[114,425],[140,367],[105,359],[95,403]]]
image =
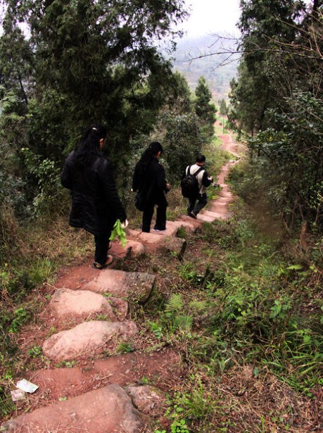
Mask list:
[[21,328],[36,320],[57,270],[93,250],[91,237],[68,227],[66,218],[30,222],[20,231],[15,232],[17,251],[2,254],[0,264],[0,417],[15,408],[8,389],[17,369]]

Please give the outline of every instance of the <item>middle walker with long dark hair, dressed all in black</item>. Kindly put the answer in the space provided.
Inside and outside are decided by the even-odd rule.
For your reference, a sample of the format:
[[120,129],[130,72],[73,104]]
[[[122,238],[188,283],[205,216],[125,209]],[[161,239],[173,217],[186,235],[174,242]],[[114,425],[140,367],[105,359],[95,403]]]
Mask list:
[[142,215],[142,231],[149,233],[153,211],[157,205],[155,232],[166,230],[167,200],[165,192],[170,191],[170,185],[165,179],[165,169],[158,161],[163,153],[159,142],[152,142],[142,154],[134,168],[132,191],[139,192],[144,201]]

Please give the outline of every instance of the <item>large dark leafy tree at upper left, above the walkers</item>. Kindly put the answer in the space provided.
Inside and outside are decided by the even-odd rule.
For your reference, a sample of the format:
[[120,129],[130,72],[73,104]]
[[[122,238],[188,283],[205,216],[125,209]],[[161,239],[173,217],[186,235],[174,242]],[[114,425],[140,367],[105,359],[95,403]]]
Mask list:
[[[107,124],[118,153],[165,98],[170,63],[154,41],[173,34],[182,0],[4,1],[6,20],[24,20],[35,58],[37,108],[31,140],[38,153],[61,158],[89,120]],[[59,125],[59,127],[58,127]]]

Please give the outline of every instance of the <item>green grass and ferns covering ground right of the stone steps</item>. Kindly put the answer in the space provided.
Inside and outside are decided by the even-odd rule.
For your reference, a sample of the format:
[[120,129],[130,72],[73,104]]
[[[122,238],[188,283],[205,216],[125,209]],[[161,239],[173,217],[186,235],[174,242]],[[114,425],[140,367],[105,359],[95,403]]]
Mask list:
[[[322,278],[296,250],[286,251],[279,231],[262,232],[243,206],[235,215],[187,238],[176,283],[148,321],[155,339],[177,347],[189,366],[165,414],[167,433],[235,432],[219,388],[236,368],[251,365],[258,382],[276,377],[295,400],[314,401],[322,386]],[[199,253],[190,258],[194,248]],[[241,431],[277,431],[266,410],[267,401],[253,414],[255,425]],[[290,422],[282,411],[274,425],[291,431]]]

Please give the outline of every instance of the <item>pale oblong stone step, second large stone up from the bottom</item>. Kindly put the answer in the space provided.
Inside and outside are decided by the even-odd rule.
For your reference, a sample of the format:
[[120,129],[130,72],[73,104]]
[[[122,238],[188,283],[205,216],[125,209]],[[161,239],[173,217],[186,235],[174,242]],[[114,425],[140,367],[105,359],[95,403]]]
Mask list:
[[[91,320],[73,327],[71,330],[61,331],[46,339],[43,353],[51,360],[72,360],[75,358],[90,358],[92,353],[103,353],[116,340],[126,340],[137,333],[137,325],[125,322],[106,322]],[[112,341],[111,341],[112,340]]]

